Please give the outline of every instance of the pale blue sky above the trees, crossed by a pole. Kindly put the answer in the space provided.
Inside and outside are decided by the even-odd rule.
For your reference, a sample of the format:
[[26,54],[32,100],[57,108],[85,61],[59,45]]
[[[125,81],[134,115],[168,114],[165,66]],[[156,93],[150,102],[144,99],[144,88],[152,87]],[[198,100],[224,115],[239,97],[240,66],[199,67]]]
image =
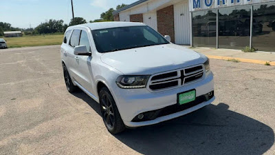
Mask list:
[[[100,19],[100,14],[119,4],[137,0],[73,0],[74,17],[83,17],[87,22]],[[35,28],[49,19],[72,19],[71,0],[0,0],[0,21],[11,23],[16,28]]]

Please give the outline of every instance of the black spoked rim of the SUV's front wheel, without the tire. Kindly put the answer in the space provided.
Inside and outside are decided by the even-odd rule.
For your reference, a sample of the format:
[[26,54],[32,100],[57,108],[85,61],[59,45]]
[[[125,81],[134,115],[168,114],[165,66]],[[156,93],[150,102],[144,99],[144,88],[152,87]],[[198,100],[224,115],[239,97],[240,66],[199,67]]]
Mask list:
[[101,112],[104,123],[106,123],[108,127],[113,128],[115,115],[113,114],[113,105],[111,104],[110,97],[106,94],[103,94],[101,98],[101,103]]

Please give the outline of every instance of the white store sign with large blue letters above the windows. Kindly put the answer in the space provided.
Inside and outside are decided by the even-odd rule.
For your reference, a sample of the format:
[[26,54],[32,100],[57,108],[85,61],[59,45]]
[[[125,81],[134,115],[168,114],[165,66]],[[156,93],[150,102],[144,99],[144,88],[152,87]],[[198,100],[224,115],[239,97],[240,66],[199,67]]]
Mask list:
[[189,0],[190,11],[230,6],[243,6],[254,3],[267,3],[275,0]]

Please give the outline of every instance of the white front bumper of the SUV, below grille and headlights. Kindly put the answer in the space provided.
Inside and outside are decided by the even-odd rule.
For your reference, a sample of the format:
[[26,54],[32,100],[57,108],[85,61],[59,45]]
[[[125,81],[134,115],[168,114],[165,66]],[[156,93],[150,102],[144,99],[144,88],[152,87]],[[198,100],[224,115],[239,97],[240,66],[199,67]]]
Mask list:
[[212,72],[208,72],[205,78],[201,81],[185,85],[183,87],[178,87],[173,90],[165,90],[162,92],[149,92],[146,88],[128,90],[121,89],[116,86],[112,92],[124,124],[128,127],[140,127],[144,125],[152,125],[162,121],[167,121],[169,119],[188,114],[190,112],[200,109],[201,107],[209,105],[210,103],[212,103],[212,101],[214,101],[215,98],[212,97],[212,99],[210,99],[209,101],[202,102],[181,112],[157,117],[151,121],[132,121],[133,118],[137,116],[137,114],[159,110],[169,105],[174,105],[175,103],[177,103],[177,93],[186,92],[193,89],[196,90],[196,97],[207,94],[208,92],[212,92],[214,90],[214,80]]

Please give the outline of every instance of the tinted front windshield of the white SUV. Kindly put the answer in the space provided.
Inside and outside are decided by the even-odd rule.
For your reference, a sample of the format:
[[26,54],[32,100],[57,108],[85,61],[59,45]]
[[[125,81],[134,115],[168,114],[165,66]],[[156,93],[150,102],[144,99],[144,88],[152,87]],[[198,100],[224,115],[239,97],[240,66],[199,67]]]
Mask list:
[[169,43],[164,37],[148,26],[93,30],[92,34],[98,52],[113,52]]

